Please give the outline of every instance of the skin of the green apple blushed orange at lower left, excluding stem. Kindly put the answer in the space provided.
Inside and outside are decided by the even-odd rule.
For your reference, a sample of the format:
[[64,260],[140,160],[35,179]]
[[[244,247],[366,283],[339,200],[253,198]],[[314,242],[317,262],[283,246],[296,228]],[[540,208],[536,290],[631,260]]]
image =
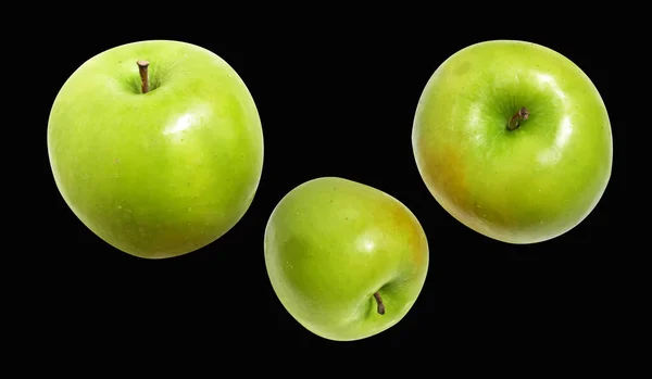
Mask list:
[[[529,118],[507,129],[522,106]],[[444,61],[421,96],[412,143],[425,185],[450,215],[514,244],[581,223],[612,169],[598,89],[567,58],[518,40],[472,45]]]

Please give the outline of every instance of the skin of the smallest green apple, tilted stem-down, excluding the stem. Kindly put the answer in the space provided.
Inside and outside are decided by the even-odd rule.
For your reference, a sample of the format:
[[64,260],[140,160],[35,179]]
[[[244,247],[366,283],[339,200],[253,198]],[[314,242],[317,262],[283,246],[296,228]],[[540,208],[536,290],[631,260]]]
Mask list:
[[368,338],[399,323],[428,269],[428,242],[414,214],[378,189],[338,177],[309,180],[280,200],[264,252],[280,303],[333,341]]

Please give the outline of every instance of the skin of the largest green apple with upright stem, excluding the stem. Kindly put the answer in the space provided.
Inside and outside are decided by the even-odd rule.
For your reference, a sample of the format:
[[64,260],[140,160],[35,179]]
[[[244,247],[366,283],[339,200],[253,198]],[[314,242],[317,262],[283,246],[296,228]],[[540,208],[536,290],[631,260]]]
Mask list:
[[[147,93],[138,60],[150,63]],[[263,165],[262,125],[242,79],[213,52],[171,40],[85,62],[54,100],[47,143],[74,214],[143,258],[183,255],[227,232]]]

